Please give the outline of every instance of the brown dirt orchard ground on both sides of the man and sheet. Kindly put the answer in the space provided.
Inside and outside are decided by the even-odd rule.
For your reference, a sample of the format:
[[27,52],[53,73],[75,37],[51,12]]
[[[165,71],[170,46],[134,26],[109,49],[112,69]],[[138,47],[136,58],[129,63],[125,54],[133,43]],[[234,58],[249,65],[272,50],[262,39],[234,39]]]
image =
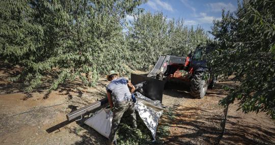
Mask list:
[[[0,68],[0,144],[103,144],[106,138],[92,128],[66,121],[66,114],[105,97],[107,81],[94,88],[67,82],[47,94],[41,87],[24,93],[22,83],[11,83],[19,69]],[[218,101],[227,95],[219,89],[233,82],[218,82],[205,98],[193,99],[186,92],[165,90],[164,105],[173,114],[162,115],[159,125],[169,124],[164,144],[275,144],[275,125],[263,113],[244,114],[229,106],[226,130],[220,137],[224,108]]]

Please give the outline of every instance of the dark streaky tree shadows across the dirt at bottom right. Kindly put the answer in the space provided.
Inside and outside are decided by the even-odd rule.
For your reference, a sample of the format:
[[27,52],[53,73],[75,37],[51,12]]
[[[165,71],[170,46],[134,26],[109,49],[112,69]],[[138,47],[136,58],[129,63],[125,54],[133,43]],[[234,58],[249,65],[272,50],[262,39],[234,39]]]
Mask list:
[[[200,107],[185,107],[177,108],[174,115],[175,119],[169,124],[175,133],[164,144],[217,144],[219,142],[223,114],[216,114]],[[242,118],[228,116],[228,119]],[[167,120],[170,119],[167,118]],[[274,132],[274,127],[268,129],[261,124],[227,121],[223,140],[225,144],[274,144],[274,140],[272,141]]]

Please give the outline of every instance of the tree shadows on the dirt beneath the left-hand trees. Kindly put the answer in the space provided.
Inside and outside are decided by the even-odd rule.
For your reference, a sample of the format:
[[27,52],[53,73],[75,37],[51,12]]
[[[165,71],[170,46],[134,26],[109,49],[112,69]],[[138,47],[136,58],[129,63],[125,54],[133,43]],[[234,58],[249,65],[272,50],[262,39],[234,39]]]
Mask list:
[[[17,76],[22,70],[19,67],[11,67],[7,64],[0,62],[0,95],[22,93],[24,97],[22,100],[28,100],[34,97],[35,93],[43,94],[43,99],[47,99],[51,93],[48,92],[50,85],[58,77],[58,71],[47,72],[45,76],[47,79],[42,79],[43,83],[32,92],[26,92],[24,89],[26,85],[23,81],[9,81],[9,78]],[[104,83],[99,82],[97,86],[105,86]],[[69,99],[72,99],[72,96],[77,96],[79,98],[84,94],[84,90],[88,89],[88,86],[84,85],[80,81],[66,81],[66,83],[60,84],[58,87],[58,95],[66,95]],[[104,93],[96,94],[104,95]]]

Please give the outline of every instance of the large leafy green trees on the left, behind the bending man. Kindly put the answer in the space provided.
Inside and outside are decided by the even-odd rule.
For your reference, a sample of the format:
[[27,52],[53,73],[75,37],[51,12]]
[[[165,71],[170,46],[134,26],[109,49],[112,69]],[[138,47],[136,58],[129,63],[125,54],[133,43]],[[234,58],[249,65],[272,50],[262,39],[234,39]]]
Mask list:
[[66,79],[81,73],[98,74],[123,69],[125,46],[122,35],[126,14],[137,13],[136,1],[1,1],[0,55],[23,68],[13,80],[24,80],[27,91],[42,83],[54,68],[59,76],[56,89]]

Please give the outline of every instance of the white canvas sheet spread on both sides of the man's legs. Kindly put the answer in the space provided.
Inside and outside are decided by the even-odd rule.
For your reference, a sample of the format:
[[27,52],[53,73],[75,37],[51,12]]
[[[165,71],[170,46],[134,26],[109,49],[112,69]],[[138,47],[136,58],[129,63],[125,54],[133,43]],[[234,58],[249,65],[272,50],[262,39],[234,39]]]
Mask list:
[[[141,119],[155,139],[158,120],[163,112],[164,106],[160,101],[153,101],[139,92],[135,94],[135,97],[136,102],[134,104],[134,109],[139,113]],[[112,119],[113,112],[110,109],[103,108],[84,123],[108,138],[111,132]]]

